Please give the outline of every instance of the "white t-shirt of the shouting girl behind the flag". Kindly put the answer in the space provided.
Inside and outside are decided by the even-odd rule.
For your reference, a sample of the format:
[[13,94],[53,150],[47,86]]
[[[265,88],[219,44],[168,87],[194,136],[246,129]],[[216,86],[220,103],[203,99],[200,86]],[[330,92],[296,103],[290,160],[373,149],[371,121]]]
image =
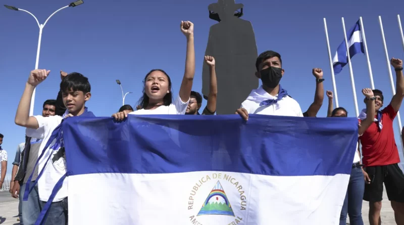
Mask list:
[[169,106],[159,106],[156,109],[139,109],[129,114],[134,115],[185,115],[188,102],[182,102],[180,96],[174,100]]

